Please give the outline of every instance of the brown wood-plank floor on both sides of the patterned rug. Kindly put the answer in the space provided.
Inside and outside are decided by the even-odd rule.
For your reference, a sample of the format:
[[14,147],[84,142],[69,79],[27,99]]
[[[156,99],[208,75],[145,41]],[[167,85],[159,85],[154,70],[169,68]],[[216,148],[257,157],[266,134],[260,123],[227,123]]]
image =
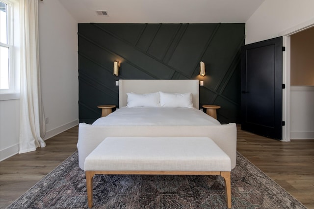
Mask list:
[[[314,209],[314,140],[281,142],[240,130],[237,150],[309,209]],[[46,140],[45,148],[0,162],[3,209],[62,163],[76,148],[78,126]]]

